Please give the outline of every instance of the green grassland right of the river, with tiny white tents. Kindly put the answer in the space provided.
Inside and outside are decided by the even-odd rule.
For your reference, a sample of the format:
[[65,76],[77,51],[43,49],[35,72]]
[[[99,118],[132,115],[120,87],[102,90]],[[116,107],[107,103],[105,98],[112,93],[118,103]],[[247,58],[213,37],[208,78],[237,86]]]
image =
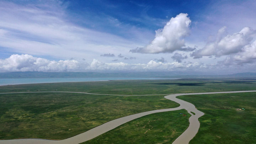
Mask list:
[[[199,131],[190,144],[256,143],[256,92],[178,98],[193,103],[205,114],[199,118]],[[236,108],[245,108],[245,111]]]

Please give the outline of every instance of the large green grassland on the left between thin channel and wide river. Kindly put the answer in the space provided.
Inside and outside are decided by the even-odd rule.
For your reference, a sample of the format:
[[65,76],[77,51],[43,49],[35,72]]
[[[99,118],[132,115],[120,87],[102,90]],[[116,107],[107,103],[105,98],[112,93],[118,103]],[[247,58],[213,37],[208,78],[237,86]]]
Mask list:
[[163,96],[72,93],[0,95],[0,139],[65,139],[134,113],[172,108]]

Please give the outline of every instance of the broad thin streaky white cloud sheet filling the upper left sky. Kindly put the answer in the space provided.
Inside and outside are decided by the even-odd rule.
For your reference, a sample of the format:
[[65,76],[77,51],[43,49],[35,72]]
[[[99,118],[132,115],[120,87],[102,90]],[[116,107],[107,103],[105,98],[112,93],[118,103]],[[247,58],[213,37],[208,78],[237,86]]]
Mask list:
[[59,1],[0,1],[0,47],[12,53],[92,60],[104,59],[100,57],[102,53],[128,53],[132,47],[140,46],[114,34],[78,26],[65,10]]

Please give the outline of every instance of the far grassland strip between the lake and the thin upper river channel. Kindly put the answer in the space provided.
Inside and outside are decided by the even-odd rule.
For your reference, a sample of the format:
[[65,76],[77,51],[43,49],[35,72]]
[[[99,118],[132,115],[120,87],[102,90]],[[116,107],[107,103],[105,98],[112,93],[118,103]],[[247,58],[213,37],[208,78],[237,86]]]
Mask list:
[[96,94],[145,95],[255,90],[256,79],[177,79],[63,82],[0,86],[1,92],[76,91]]

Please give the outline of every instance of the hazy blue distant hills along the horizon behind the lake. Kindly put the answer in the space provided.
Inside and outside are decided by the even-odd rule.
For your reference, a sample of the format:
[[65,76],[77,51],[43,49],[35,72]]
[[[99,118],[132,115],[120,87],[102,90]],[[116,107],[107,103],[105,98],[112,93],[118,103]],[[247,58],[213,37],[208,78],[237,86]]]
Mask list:
[[0,78],[256,78],[256,73],[236,73],[230,75],[192,75],[183,71],[153,71],[153,72],[5,72]]

